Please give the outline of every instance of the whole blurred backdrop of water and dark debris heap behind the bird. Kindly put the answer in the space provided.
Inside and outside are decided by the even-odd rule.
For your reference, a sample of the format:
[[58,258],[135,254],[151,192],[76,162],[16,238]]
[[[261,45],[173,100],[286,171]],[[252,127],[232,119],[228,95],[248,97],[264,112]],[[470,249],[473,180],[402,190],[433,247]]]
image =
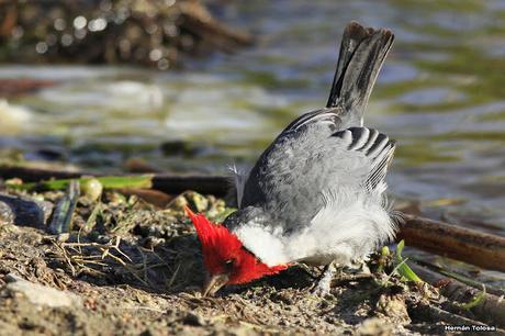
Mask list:
[[0,161],[226,173],[325,104],[345,25],[396,35],[390,193],[505,232],[505,2],[0,0]]

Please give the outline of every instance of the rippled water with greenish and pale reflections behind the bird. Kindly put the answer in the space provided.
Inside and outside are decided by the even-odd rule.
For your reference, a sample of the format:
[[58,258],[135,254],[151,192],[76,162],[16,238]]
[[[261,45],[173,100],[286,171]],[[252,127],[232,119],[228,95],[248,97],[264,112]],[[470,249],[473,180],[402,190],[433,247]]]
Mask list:
[[[110,171],[132,157],[173,171],[251,164],[284,124],[326,101],[337,42],[354,19],[396,34],[367,114],[399,141],[391,192],[464,199],[451,211],[505,227],[503,1],[236,1],[218,14],[255,32],[257,46],[181,72],[3,66],[1,78],[58,85],[0,108],[2,120],[23,109],[15,127],[0,125],[0,145],[31,158],[49,148]],[[15,137],[7,135],[14,128]],[[170,155],[180,139],[191,150]]]

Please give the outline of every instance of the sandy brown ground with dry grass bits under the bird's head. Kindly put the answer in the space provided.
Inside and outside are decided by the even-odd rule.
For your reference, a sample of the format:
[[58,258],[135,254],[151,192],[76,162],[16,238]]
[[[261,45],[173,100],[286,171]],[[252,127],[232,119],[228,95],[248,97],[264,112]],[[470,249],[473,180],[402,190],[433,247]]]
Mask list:
[[[60,192],[30,195],[53,202]],[[80,200],[71,234],[0,226],[1,335],[411,335],[442,326],[417,307],[437,290],[389,277],[344,273],[332,293],[312,294],[318,269],[295,266],[248,285],[202,298],[200,245],[181,205],[218,220],[222,200],[187,194],[162,210],[133,197]],[[0,217],[1,219],[1,217]],[[379,261],[378,261],[379,260]],[[378,262],[384,270],[378,272]]]

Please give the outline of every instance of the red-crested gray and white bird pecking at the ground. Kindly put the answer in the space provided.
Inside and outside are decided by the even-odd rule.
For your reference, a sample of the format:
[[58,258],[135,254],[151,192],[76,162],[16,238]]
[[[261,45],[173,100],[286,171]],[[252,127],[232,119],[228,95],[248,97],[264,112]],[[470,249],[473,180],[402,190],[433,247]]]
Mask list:
[[296,264],[349,265],[394,237],[384,179],[396,143],[363,126],[393,41],[350,22],[326,107],[291,122],[248,172],[235,170],[238,210],[215,224],[186,209],[209,275],[203,295]]

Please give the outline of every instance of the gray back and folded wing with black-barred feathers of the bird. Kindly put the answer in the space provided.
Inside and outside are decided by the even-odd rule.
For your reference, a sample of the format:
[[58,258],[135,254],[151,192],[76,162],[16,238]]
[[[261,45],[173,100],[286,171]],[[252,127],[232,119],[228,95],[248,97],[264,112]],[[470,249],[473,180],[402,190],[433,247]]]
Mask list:
[[[321,134],[328,133],[327,136]],[[324,192],[381,193],[395,143],[375,130],[330,133],[324,123],[291,131],[263,153],[249,173],[240,208],[261,208],[285,231],[307,225]]]

